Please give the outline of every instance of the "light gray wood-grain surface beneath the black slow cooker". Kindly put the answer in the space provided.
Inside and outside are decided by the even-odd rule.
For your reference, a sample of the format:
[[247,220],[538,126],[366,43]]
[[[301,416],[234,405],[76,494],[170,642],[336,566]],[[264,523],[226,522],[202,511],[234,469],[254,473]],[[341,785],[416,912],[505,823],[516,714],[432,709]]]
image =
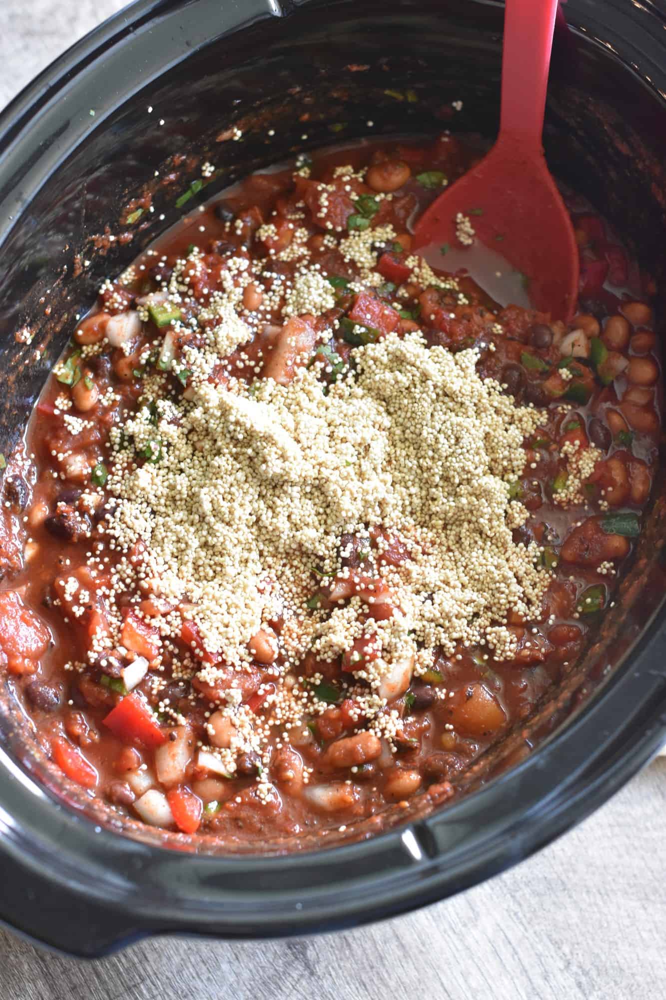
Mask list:
[[[220,0],[223,2],[223,0]],[[118,0],[0,0],[0,106]],[[0,931],[0,1000],[664,1000],[666,760],[517,868],[294,941],[147,940],[76,962]]]

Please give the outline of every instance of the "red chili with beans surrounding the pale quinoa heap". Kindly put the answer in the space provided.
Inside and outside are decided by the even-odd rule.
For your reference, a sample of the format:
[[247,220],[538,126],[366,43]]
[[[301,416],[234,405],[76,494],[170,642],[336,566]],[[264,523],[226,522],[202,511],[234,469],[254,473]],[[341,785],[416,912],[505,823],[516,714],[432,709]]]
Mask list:
[[[158,289],[190,245],[204,252],[202,263],[193,269],[191,288],[195,300],[205,301],[214,275],[224,269],[230,256],[265,257],[270,248],[279,253],[288,245],[293,233],[289,212],[303,202],[305,218],[299,225],[310,232],[312,259],[326,274],[353,278],[353,266],[337,248],[327,246],[323,237],[329,231],[327,221],[334,226],[349,225],[349,216],[358,214],[358,206],[350,202],[343,184],[323,205],[312,178],[330,178],[336,165],[360,168],[368,163],[377,168],[380,185],[402,176],[401,170],[406,177],[391,201],[378,202],[368,222],[373,227],[392,223],[403,245],[385,247],[378,265],[394,286],[388,284],[378,295],[373,293],[372,308],[381,327],[385,310],[389,319],[395,318],[390,313],[391,296],[409,275],[404,261],[410,228],[438,193],[436,185],[424,183],[423,175],[441,171],[451,182],[475,155],[451,137],[427,144],[373,142],[315,156],[310,178],[294,178],[291,167],[249,177],[203,212],[191,212],[145,252],[136,262],[133,282],[104,290],[97,312],[79,324],[79,329],[87,331],[83,339],[94,341],[99,330],[106,329],[108,315],[125,316],[137,296]],[[363,183],[357,186],[360,193],[374,198],[375,189]],[[275,224],[276,232],[270,239],[261,239],[257,231],[266,220]],[[213,831],[229,844],[252,841],[260,847],[269,834],[271,838],[293,836],[348,825],[363,816],[380,815],[388,803],[413,796],[429,795],[433,805],[444,801],[454,794],[456,779],[465,768],[530,715],[573,667],[612,600],[640,531],[641,512],[655,472],[660,426],[656,338],[649,304],[637,287],[637,268],[599,216],[574,202],[573,221],[583,272],[581,312],[570,330],[556,317],[522,305],[503,308],[466,275],[460,276],[468,299],[464,305],[441,289],[412,283],[402,300],[399,323],[403,334],[420,326],[429,345],[452,351],[480,345],[478,370],[483,376],[496,378],[518,402],[548,409],[547,422],[525,442],[527,466],[515,489],[529,511],[527,523],[515,531],[515,540],[536,539],[554,572],[542,614],[529,622],[519,616],[509,618],[508,625],[518,639],[517,653],[509,661],[498,662],[487,649],[464,647],[454,656],[439,655],[429,674],[413,678],[408,690],[391,704],[401,720],[395,752],[384,746],[379,756],[373,751],[368,760],[364,753],[372,743],[370,734],[354,715],[353,699],[343,697],[343,664],[332,664],[325,684],[332,691],[333,703],[322,715],[312,717],[306,731],[291,744],[276,734],[271,790],[264,797],[257,792],[256,754],[241,755],[233,778],[220,777],[198,763],[195,744],[202,739],[215,706],[211,707],[204,696],[210,692],[202,691],[201,685],[197,688],[189,679],[171,677],[168,655],[161,674],[166,687],[159,695],[149,684],[150,670],[131,693],[125,693],[121,670],[136,656],[152,660],[159,646],[150,618],[135,615],[136,594],[123,597],[127,655],[106,656],[105,663],[88,656],[90,636],[105,614],[100,586],[117,556],[100,533],[99,510],[86,507],[82,494],[90,487],[91,477],[103,485],[109,430],[120,414],[136,406],[145,374],[142,348],[161,342],[164,328],[153,322],[139,324],[129,355],[106,344],[94,357],[70,362],[82,370],[77,382],[79,401],[87,405],[91,395],[95,397],[89,409],[70,411],[86,420],[77,434],[70,433],[55,405],[63,392],[76,395],[77,386],[70,388],[54,377],[49,380],[27,430],[25,454],[19,451],[10,459],[5,475],[0,648],[2,669],[17,698],[24,703],[44,748],[66,775],[132,814],[145,788],[163,792],[171,817],[167,813],[166,825],[171,829]],[[439,266],[447,266],[446,258]],[[293,268],[289,262],[279,265],[287,277]],[[340,280],[336,316],[351,314],[354,319],[357,297],[345,288],[345,280]],[[280,326],[284,322],[279,311],[267,321]],[[579,357],[570,357],[570,351],[563,348],[573,331],[579,331],[575,334]],[[248,381],[254,378],[248,357],[254,363],[253,351],[258,346],[259,339],[245,345],[246,357],[238,366]],[[332,333],[330,349],[338,359],[349,358],[352,344],[340,328]],[[68,350],[65,357],[70,354]],[[109,387],[117,401],[105,407],[99,397]],[[173,392],[182,391],[183,386],[174,380]],[[581,450],[596,446],[601,457],[582,484],[586,502],[563,508],[555,501],[558,491],[566,489],[567,462],[561,454],[566,441],[578,442]],[[105,560],[103,572],[95,577],[87,569],[91,552]],[[373,542],[370,558],[376,555]],[[396,562],[404,558],[399,546],[384,555]],[[348,562],[361,571],[361,555],[353,539]],[[379,563],[376,569],[381,573]],[[72,611],[72,596],[58,583],[72,574],[78,574],[87,589],[86,606],[78,615]],[[280,622],[273,625],[279,636]],[[196,631],[188,628],[186,623],[183,650],[198,643]],[[80,668],[65,670],[64,665],[72,662]],[[311,669],[307,658],[301,669],[305,674]],[[273,673],[256,659],[242,682],[243,700],[258,715],[270,713],[274,686]],[[444,698],[438,697],[440,687],[446,688]],[[175,783],[160,782],[153,772],[155,753],[168,745],[165,741],[174,731],[173,720],[156,711],[167,695],[188,727],[186,761]],[[142,773],[137,768],[143,764],[147,765],[144,773],[152,777],[142,791],[136,779]],[[308,787],[320,787],[328,796],[326,804],[304,796],[304,767],[311,769]]]

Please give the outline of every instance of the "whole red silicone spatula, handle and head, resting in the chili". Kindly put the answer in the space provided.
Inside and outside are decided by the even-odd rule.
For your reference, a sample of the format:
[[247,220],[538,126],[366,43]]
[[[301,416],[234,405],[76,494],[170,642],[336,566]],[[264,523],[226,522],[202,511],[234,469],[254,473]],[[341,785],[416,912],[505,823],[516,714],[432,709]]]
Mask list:
[[[472,277],[487,270],[490,249],[493,261],[500,255],[520,272],[536,309],[568,320],[578,291],[578,251],[541,145],[557,4],[506,0],[499,136],[490,152],[424,212],[414,246],[463,251]],[[474,230],[469,245],[459,239],[465,229],[461,217]],[[475,258],[482,258],[476,262],[480,266]],[[431,254],[428,259],[433,263]],[[440,266],[447,269],[444,259]]]

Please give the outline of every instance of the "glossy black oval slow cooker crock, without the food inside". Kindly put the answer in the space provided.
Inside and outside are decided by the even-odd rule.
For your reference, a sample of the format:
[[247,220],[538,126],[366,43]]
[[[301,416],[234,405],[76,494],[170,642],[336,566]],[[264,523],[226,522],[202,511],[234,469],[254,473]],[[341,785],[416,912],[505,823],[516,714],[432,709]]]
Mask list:
[[[666,9],[570,0],[566,13],[549,89],[551,167],[659,277]],[[0,449],[102,278],[185,206],[370,130],[491,138],[502,17],[488,0],[140,0],[50,66],[0,116]],[[205,159],[220,173],[199,191]],[[147,196],[153,210],[143,200],[128,223],[132,199]],[[526,857],[664,739],[663,492],[603,635],[564,688],[475,767],[452,805],[391,816],[379,836],[361,826],[354,843],[263,857],[221,855],[206,840],[195,853],[176,834],[160,846],[68,785],[3,689],[0,919],[78,955],[157,932],[308,933],[405,912]]]

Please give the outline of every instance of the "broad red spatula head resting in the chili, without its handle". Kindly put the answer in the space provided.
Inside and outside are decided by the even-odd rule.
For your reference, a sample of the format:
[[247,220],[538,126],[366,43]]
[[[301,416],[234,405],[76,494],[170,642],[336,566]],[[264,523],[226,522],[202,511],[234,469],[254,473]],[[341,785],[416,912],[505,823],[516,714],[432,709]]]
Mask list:
[[[474,230],[469,245],[461,219],[469,219]],[[578,248],[569,213],[541,153],[500,139],[424,212],[414,248],[431,245],[464,251],[473,278],[479,270],[475,247],[498,252],[524,276],[535,309],[550,313],[552,319],[571,319],[578,294]]]

